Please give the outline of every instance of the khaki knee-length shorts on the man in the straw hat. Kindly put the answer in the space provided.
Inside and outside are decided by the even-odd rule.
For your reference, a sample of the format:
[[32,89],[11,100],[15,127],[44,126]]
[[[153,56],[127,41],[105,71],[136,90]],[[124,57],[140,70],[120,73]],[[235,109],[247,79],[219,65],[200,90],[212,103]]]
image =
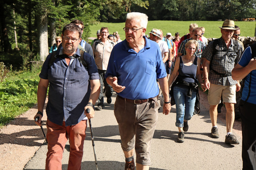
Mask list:
[[208,102],[210,105],[218,105],[221,102],[221,96],[223,103],[237,103],[236,101],[236,85],[222,86],[212,84],[208,91]]

